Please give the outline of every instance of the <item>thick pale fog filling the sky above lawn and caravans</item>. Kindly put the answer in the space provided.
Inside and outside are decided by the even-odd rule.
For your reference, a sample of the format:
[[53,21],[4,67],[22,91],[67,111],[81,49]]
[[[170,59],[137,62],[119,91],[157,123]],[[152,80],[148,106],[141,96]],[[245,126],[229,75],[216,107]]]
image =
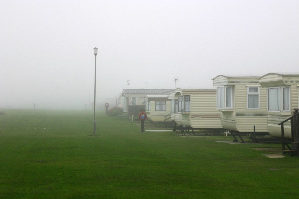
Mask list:
[[298,72],[298,0],[0,2],[0,108],[85,109],[94,47],[98,103],[173,77],[212,88],[221,74]]

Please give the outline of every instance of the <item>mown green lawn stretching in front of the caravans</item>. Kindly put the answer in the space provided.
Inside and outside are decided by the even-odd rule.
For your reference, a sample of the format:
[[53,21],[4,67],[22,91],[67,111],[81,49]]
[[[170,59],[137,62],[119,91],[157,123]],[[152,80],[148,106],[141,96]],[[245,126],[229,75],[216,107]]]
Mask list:
[[92,111],[0,115],[0,198],[297,198],[299,159],[271,159],[232,137],[140,133]]

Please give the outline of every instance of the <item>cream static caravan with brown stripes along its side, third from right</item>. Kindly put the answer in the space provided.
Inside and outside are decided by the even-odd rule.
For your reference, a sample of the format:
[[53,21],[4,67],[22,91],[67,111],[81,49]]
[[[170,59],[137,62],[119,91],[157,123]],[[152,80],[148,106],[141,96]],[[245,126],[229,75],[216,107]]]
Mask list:
[[190,129],[222,129],[220,112],[216,110],[216,89],[177,88],[168,98],[172,99],[172,120],[178,125]]

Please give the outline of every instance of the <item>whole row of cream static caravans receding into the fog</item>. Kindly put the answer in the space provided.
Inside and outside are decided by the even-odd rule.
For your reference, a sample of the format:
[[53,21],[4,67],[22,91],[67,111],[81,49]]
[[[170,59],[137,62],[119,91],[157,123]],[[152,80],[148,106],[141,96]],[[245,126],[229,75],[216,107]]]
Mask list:
[[[298,109],[299,73],[219,75],[212,80],[216,89],[124,89],[117,100],[129,116],[128,107],[145,108],[153,123],[168,120],[189,129],[268,132],[274,137],[281,137],[278,124]],[[291,138],[289,121],[284,129]]]

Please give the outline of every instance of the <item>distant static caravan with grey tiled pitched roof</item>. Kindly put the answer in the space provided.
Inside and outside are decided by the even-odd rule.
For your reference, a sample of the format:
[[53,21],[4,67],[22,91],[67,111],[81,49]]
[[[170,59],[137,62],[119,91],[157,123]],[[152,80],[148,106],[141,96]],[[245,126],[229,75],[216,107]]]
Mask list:
[[129,119],[133,120],[134,116],[138,116],[140,109],[145,108],[145,95],[161,95],[171,90],[173,89],[123,89],[121,106]]

